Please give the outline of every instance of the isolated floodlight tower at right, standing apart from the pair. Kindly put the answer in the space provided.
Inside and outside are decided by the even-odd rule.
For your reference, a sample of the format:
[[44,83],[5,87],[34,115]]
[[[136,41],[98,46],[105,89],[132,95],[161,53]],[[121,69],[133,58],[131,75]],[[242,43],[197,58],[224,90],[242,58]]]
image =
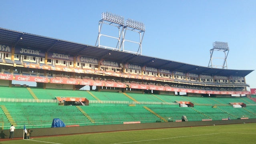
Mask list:
[[[222,58],[212,57],[214,51],[224,52],[224,57],[222,57]],[[228,52],[229,52],[228,42],[214,42],[212,44],[212,49],[210,50],[210,56],[211,57],[210,57],[208,67],[218,67],[218,66],[220,66],[220,65],[213,65],[212,60],[213,59],[223,59],[224,61],[223,61],[223,64],[222,64],[221,67],[222,67],[222,69],[224,69],[224,68],[228,69],[228,65],[227,65]]]

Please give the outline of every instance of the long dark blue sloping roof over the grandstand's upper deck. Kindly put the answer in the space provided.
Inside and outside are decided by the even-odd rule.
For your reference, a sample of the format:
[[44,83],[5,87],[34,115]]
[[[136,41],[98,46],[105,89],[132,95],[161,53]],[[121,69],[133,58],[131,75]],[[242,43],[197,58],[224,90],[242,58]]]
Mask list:
[[220,68],[208,68],[204,66],[197,66],[182,62],[175,62],[172,60],[165,60],[161,58],[154,58],[150,56],[142,56],[127,52],[120,52],[117,50],[110,50],[89,46],[87,44],[80,44],[56,38],[49,38],[25,32],[18,32],[0,28],[0,44],[8,44],[11,46],[24,45],[32,48],[43,49],[46,52],[65,52],[67,54],[85,57],[98,58],[99,60],[106,59],[119,63],[131,63],[140,66],[148,66],[157,69],[165,69],[171,71],[189,72],[194,74],[213,74],[219,76],[246,76],[253,70],[229,70]]

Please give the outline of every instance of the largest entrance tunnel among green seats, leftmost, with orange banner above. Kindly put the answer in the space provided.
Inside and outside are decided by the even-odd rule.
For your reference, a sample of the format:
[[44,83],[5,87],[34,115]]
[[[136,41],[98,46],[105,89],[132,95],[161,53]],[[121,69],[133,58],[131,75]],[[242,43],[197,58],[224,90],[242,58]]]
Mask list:
[[87,98],[56,97],[60,106],[89,106]]

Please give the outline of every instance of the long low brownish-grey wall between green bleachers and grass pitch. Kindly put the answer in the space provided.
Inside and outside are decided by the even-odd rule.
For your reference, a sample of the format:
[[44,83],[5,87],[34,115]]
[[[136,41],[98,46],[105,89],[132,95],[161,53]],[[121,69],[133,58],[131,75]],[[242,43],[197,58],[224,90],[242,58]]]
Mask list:
[[[241,124],[256,122],[256,119],[244,120],[214,120],[214,121],[193,121],[193,122],[155,122],[155,123],[142,123],[142,124],[113,124],[113,125],[97,125],[97,126],[77,126],[77,127],[64,127],[64,128],[34,128],[30,129],[33,136],[54,136],[59,134],[81,134],[91,132],[111,132],[119,130],[141,130],[151,128],[175,128],[175,127],[188,127],[188,126],[209,126],[220,124]],[[27,128],[28,129],[28,128]],[[1,134],[5,138],[9,137],[9,130],[2,130]],[[18,129],[14,132],[14,137],[23,137],[23,129]]]

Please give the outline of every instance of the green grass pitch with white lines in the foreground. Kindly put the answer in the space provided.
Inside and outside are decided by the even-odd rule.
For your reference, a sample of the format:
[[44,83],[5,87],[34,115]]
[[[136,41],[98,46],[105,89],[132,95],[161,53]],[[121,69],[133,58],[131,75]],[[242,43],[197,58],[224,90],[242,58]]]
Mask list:
[[77,134],[0,144],[255,144],[256,123]]

